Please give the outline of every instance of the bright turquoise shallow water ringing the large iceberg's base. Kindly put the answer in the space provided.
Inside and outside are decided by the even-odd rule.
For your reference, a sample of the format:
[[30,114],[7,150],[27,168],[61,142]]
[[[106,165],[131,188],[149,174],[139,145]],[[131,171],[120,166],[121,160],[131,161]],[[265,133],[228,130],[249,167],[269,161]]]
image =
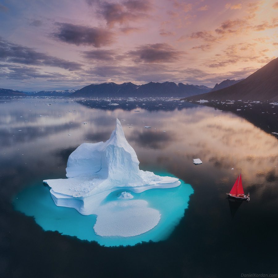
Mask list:
[[[169,173],[156,173],[162,176],[173,176]],[[118,190],[110,193],[103,203],[117,200],[121,192]],[[155,208],[161,213],[161,219],[152,230],[135,237],[101,237],[95,234],[96,215],[84,216],[74,208],[57,207],[52,200],[49,188],[42,184],[34,184],[19,192],[14,199],[15,209],[27,216],[33,216],[36,223],[44,230],[58,231],[64,235],[76,236],[82,240],[96,241],[104,246],[127,246],[150,240],[158,242],[166,239],[175,226],[179,224],[188,207],[189,196],[193,193],[190,184],[181,180],[181,185],[169,189],[150,189],[142,193],[131,194],[133,200],[140,199],[149,203],[150,208]]]

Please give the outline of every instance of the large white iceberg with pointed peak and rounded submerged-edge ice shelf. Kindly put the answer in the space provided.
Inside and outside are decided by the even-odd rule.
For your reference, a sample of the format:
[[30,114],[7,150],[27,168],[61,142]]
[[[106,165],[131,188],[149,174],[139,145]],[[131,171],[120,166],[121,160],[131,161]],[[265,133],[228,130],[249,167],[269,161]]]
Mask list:
[[[55,204],[75,208],[83,215],[96,214],[98,217],[94,229],[101,236],[142,234],[154,228],[160,219],[160,213],[148,208],[144,200],[116,198],[104,204],[103,200],[111,192],[127,190],[140,193],[152,188],[180,185],[177,178],[162,177],[139,169],[137,155],[125,139],[118,119],[116,128],[105,143],[83,143],[70,154],[66,176],[68,179],[44,180],[51,187]],[[110,220],[121,224],[113,228]]]

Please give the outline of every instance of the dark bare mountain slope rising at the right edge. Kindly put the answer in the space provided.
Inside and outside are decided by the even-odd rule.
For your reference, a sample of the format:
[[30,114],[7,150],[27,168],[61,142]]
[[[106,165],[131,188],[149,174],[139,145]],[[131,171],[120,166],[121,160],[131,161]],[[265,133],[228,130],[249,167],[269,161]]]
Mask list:
[[201,95],[184,98],[186,100],[278,100],[278,58],[255,71],[244,80]]

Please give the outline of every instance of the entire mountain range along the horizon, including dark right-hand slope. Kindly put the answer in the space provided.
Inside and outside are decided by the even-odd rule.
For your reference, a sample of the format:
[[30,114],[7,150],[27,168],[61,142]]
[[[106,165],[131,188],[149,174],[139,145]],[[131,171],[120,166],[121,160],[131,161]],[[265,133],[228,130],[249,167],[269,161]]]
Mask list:
[[224,80],[213,88],[175,82],[131,82],[91,84],[80,90],[20,92],[1,89],[0,96],[72,96],[72,97],[178,97],[186,100],[278,100],[278,58],[270,61],[250,76],[240,80]]

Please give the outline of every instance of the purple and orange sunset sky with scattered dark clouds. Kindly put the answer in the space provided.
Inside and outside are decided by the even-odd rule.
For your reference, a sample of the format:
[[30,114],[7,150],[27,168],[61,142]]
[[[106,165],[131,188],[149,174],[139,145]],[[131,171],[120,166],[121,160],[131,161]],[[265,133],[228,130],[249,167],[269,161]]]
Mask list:
[[102,82],[213,87],[278,56],[278,2],[0,1],[0,87]]

